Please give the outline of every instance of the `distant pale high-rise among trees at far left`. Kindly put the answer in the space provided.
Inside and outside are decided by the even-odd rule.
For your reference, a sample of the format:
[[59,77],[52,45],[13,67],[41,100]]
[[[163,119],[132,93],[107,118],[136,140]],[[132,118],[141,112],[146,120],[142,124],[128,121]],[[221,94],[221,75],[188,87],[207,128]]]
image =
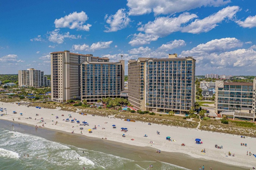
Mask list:
[[44,71],[28,68],[18,71],[19,86],[46,87],[51,85],[51,80],[47,80]]

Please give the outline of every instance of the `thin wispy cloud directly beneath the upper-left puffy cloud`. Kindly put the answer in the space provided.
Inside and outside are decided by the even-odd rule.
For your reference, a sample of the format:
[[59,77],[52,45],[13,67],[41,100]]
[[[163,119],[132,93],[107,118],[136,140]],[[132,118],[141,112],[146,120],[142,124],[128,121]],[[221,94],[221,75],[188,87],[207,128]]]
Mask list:
[[48,40],[54,43],[61,44],[64,42],[65,38],[69,39],[79,39],[81,38],[81,35],[75,36],[75,35],[69,35],[69,32],[61,34],[59,33],[59,29],[55,29],[54,31],[48,32],[50,36],[48,37]]

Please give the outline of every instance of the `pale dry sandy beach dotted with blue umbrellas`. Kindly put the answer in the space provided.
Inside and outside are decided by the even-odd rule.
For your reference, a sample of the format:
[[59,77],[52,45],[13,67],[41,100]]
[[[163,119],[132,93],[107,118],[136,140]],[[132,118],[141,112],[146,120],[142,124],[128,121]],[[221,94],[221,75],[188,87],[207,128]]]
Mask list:
[[[75,134],[81,134],[82,131],[83,135],[104,138],[103,140],[107,138],[106,141],[122,142],[135,146],[148,146],[167,152],[185,153],[195,158],[214,160],[247,168],[252,168],[256,165],[254,163],[256,158],[253,155],[247,155],[247,150],[248,153],[251,152],[251,154],[254,154],[254,151],[256,151],[256,146],[254,145],[256,138],[240,138],[240,136],[237,135],[213,133],[183,127],[170,127],[158,124],[148,125],[148,123],[144,122],[127,122],[111,117],[84,116],[79,113],[60,111],[58,109],[37,109],[35,107],[18,106],[11,103],[0,102],[0,107],[7,109],[7,115],[0,116],[0,119],[9,121],[14,119],[15,123],[42,126],[43,123],[40,123],[40,120],[41,117],[43,117],[45,122],[44,127],[66,131],[70,133],[70,135],[72,135],[72,131],[74,131]],[[13,111],[16,111],[17,114],[13,114]],[[1,114],[2,113],[5,113],[5,111],[1,112]],[[23,113],[23,116],[20,116],[20,113]],[[36,114],[39,116],[36,116]],[[61,116],[62,114],[64,116]],[[72,118],[69,118],[69,114],[72,115]],[[56,116],[59,116],[59,119],[56,119]],[[32,119],[26,119],[29,117]],[[20,120],[18,120],[18,118],[20,118]],[[80,123],[76,123],[76,121],[74,123],[65,121],[66,119],[72,120],[74,118],[79,120],[80,123],[86,121],[89,123],[89,126],[79,126]],[[58,123],[55,125],[56,121],[58,121]],[[112,125],[116,125],[116,128],[112,128]],[[92,129],[94,126],[96,126],[97,129],[92,130],[92,133],[88,133],[88,129]],[[84,129],[80,130],[80,127]],[[121,127],[128,128],[128,131],[123,133],[120,129]],[[160,132],[160,135],[157,135],[157,130]],[[125,134],[126,137],[122,137],[122,134]],[[144,137],[145,134],[148,137]],[[171,139],[176,142],[167,141],[167,136],[171,137]],[[196,138],[200,138],[203,143],[195,144]],[[134,140],[132,141],[131,139]],[[150,144],[150,141],[154,143]],[[181,146],[182,143],[186,146]],[[247,147],[241,146],[240,143],[246,143]],[[215,144],[223,146],[223,149],[215,148]],[[201,152],[203,149],[205,149],[205,153]],[[235,154],[235,156],[228,156],[228,152]]]

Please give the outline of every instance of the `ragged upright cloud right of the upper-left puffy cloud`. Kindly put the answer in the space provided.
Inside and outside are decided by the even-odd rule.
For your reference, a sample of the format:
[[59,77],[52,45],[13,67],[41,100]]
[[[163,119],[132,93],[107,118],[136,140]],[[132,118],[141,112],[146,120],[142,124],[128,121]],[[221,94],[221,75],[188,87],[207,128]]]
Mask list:
[[116,32],[126,28],[130,23],[130,18],[125,9],[119,9],[114,15],[105,15],[105,19],[106,23],[109,24],[109,27],[105,26],[106,30],[104,32]]

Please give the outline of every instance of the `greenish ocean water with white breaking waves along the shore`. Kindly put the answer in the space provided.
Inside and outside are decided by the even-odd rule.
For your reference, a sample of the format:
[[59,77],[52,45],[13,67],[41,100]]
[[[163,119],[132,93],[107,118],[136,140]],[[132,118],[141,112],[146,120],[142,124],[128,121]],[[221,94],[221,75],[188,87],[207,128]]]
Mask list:
[[[75,140],[73,141],[73,143],[76,146],[74,146],[72,145],[72,142],[67,142],[70,144],[64,144],[52,141],[54,139],[59,141],[59,137],[56,136],[58,134],[54,134],[53,132],[51,132],[49,133],[49,137],[49,135],[47,135],[47,132],[44,132],[43,135],[47,135],[47,138],[52,139],[48,140],[44,137],[25,133],[28,130],[34,131],[33,127],[25,128],[25,125],[22,125],[23,127],[19,127],[20,125],[17,124],[12,126],[10,125],[10,123],[5,122],[6,127],[3,128],[3,126],[3,121],[1,121],[1,170],[82,170],[83,167],[87,170],[186,169],[176,165],[165,163],[163,161],[148,161],[147,158],[141,158],[137,160],[137,153],[129,153],[128,156],[124,156],[129,158],[135,158],[135,160],[129,158],[122,158],[121,156],[115,156],[114,154],[104,153],[102,151],[106,151],[106,149],[102,146],[102,144],[95,143],[94,147],[90,144],[88,145],[90,149],[87,149],[86,142],[80,143]],[[19,132],[17,132],[16,130],[18,130]],[[65,134],[62,135],[61,139],[62,141],[65,141]],[[77,145],[80,145],[81,147],[77,147]],[[115,153],[115,148],[112,148],[111,150],[113,151],[113,153]],[[27,157],[27,154],[29,155],[29,157]],[[125,153],[123,154],[125,155]],[[118,153],[117,155],[120,155],[120,153]],[[149,165],[151,164],[154,168],[149,168]]]

